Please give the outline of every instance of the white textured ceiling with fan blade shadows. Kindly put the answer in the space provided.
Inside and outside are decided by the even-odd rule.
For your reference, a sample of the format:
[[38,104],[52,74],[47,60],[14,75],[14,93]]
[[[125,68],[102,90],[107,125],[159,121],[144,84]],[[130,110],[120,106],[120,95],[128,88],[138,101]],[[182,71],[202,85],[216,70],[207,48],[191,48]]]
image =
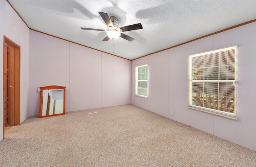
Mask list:
[[[256,19],[256,0],[8,0],[29,28],[126,59],[136,59]],[[116,16],[118,26],[143,29],[102,41],[98,12]],[[113,46],[114,45],[114,46]],[[113,53],[114,51],[114,53]]]

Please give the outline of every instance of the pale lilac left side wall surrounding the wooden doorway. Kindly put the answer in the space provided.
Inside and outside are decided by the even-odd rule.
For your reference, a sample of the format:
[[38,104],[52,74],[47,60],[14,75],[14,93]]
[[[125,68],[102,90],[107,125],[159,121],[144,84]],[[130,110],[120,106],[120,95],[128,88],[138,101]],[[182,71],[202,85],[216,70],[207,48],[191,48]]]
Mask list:
[[4,1],[4,35],[20,46],[20,123],[22,123],[28,118],[29,29],[6,1]]

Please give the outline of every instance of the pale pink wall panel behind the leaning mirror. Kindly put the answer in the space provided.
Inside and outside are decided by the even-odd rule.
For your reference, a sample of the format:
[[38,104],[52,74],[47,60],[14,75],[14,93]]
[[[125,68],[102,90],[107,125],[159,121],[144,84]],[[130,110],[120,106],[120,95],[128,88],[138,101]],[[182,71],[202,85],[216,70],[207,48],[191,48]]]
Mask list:
[[[69,42],[30,30],[29,116],[38,116],[39,86],[57,84],[69,90]],[[66,111],[69,91],[66,90]]]

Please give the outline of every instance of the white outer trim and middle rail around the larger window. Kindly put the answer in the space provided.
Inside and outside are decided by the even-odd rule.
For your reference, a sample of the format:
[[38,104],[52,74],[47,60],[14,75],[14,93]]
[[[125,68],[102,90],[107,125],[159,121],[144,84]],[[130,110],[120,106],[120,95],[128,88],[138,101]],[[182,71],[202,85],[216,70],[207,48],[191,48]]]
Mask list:
[[[234,80],[218,79],[218,80],[212,80],[212,82],[217,81],[217,82],[233,83],[233,85],[235,86],[234,87],[234,113],[193,105],[192,104],[192,57],[208,55],[208,54],[212,54],[212,53],[218,53],[218,52],[227,51],[227,50],[231,50],[231,49],[234,49],[234,51],[235,51],[235,53],[234,53]],[[199,81],[208,82],[210,80],[199,80]],[[224,116],[224,117],[232,118],[235,120],[238,119],[238,45],[234,45],[231,47],[225,47],[225,48],[221,48],[221,49],[215,49],[212,51],[206,51],[206,52],[197,53],[197,54],[193,54],[193,55],[188,55],[188,106],[187,106],[187,108],[191,108],[194,110],[199,110],[199,111],[203,111],[203,112],[207,112],[207,113],[211,113],[211,114],[215,114],[215,115],[219,115],[219,116]]]

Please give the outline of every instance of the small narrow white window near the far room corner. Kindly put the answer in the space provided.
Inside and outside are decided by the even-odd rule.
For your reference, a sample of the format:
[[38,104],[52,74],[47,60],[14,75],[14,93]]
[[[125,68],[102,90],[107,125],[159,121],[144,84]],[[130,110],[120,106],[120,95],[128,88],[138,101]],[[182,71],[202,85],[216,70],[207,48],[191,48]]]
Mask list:
[[148,65],[135,67],[137,96],[148,97]]

